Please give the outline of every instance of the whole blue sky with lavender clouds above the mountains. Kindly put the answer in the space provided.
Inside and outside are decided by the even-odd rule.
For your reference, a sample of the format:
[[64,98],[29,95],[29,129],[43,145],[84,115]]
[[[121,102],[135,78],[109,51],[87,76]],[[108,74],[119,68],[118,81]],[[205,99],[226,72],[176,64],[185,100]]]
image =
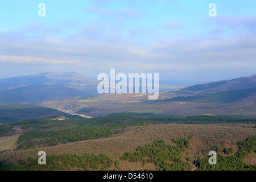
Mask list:
[[[210,3],[217,16],[209,16]],[[254,0],[1,1],[0,78],[97,78],[112,68],[188,84],[255,75],[255,7]]]

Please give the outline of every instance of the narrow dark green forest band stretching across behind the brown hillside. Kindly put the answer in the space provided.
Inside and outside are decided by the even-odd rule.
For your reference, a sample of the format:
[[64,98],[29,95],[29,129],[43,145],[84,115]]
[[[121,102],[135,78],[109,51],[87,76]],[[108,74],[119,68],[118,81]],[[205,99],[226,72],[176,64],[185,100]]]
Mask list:
[[106,117],[93,119],[80,119],[76,115],[67,117],[65,120],[54,120],[55,117],[27,119],[19,122],[9,123],[13,128],[19,126],[20,129],[51,129],[53,127],[73,127],[73,126],[137,126],[137,125],[157,125],[157,124],[213,124],[213,123],[251,123],[256,124],[256,118],[233,118],[229,116],[196,115],[191,117],[169,117],[169,115],[150,114],[151,117],[144,117],[145,114],[112,114]]

